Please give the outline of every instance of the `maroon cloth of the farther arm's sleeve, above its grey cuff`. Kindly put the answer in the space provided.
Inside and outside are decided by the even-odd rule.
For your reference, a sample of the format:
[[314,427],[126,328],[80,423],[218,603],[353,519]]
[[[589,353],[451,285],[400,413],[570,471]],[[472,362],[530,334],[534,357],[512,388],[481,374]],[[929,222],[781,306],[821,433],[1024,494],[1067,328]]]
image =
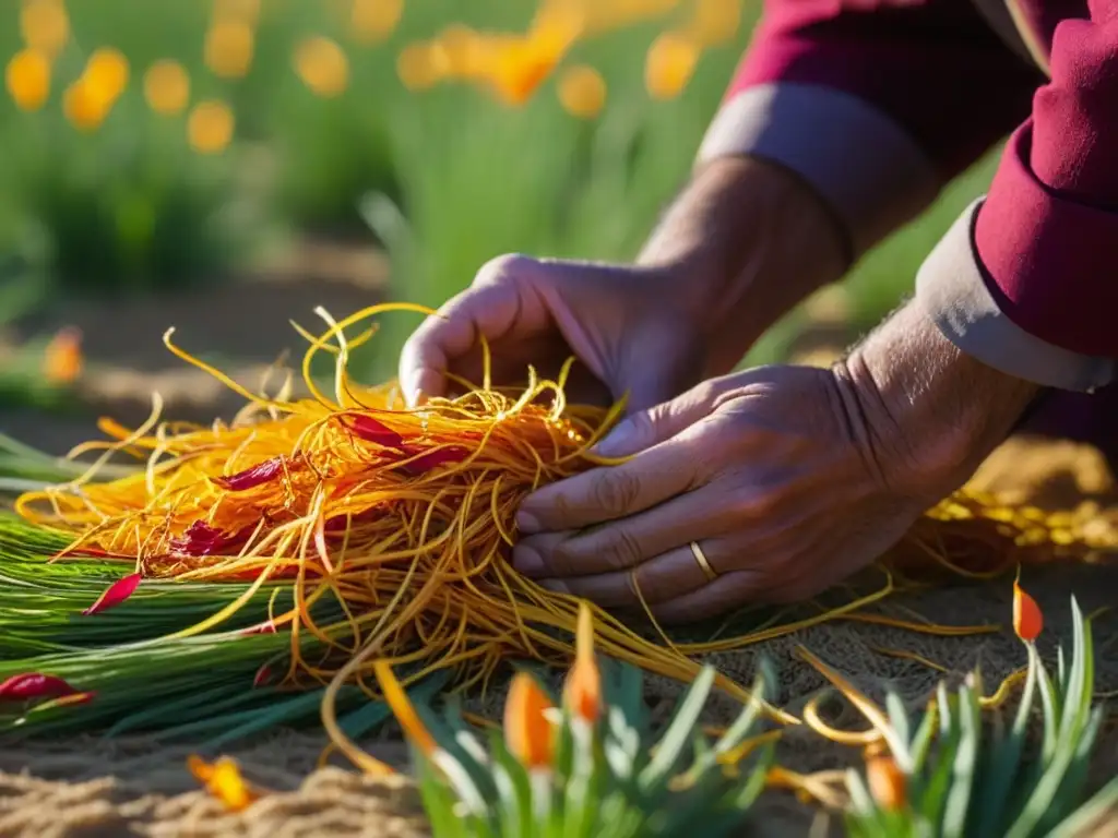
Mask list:
[[973,0],[767,0],[728,98],[766,83],[851,94],[950,179],[1029,113],[1042,79]]

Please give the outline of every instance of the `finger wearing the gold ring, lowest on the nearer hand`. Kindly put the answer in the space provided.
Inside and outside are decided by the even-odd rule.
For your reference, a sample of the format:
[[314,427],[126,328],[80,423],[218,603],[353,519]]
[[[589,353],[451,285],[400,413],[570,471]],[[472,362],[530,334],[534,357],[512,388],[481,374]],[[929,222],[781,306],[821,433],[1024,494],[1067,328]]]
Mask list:
[[569,593],[597,602],[603,608],[636,608],[665,602],[680,593],[698,591],[707,584],[707,574],[695,562],[690,547],[678,547],[627,571],[590,577],[546,579],[549,590]]

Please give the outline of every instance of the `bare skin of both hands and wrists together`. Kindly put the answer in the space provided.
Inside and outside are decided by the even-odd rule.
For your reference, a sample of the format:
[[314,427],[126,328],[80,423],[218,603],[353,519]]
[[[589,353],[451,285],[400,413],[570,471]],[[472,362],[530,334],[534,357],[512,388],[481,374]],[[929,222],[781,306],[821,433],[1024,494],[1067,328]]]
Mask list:
[[843,263],[800,187],[739,164],[723,174],[683,201],[642,264],[490,263],[400,364],[411,401],[443,394],[447,373],[480,379],[484,335],[495,381],[522,379],[529,363],[553,373],[574,354],[574,400],[628,393],[599,453],[631,459],[529,496],[513,562],[605,607],[643,598],[666,622],[806,599],[866,566],[973,474],[1036,393],[963,355],[911,303],[830,370],[727,374]]

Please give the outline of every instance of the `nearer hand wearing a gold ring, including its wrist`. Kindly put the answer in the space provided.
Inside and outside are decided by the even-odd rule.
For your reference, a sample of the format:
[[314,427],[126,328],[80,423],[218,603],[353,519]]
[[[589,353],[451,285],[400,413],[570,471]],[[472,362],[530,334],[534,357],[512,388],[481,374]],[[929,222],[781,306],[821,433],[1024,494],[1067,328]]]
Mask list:
[[805,599],[961,485],[1034,391],[908,307],[833,370],[750,370],[633,416],[603,442],[631,460],[523,503],[513,562],[604,607],[638,585],[669,622]]

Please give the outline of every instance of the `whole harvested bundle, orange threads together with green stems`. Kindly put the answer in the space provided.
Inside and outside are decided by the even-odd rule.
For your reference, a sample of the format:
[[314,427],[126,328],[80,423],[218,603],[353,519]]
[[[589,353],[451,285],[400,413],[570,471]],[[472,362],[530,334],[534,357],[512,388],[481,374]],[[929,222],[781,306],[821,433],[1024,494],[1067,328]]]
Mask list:
[[[123,731],[173,718],[179,732],[202,726],[228,737],[268,720],[290,721],[323,698],[332,736],[361,762],[349,736],[387,715],[382,704],[368,704],[378,698],[375,665],[399,669],[408,686],[435,688],[430,676],[438,675],[461,691],[484,689],[509,660],[569,663],[578,600],[521,577],[506,562],[508,549],[524,496],[610,463],[591,449],[622,406],[568,403],[569,365],[553,380],[529,371],[527,387],[517,390],[492,387],[486,372],[479,387],[458,382],[462,396],[419,409],[406,408],[391,384],[356,385],[350,351],[373,331],[348,339],[345,330],[400,310],[429,313],[382,305],[334,323],[320,312],[330,327],[318,337],[304,333],[311,398],[299,400],[290,398],[290,380],[276,396],[245,390],[178,349],[168,333],[173,353],[247,404],[228,425],[210,427],[160,422],[158,403],[134,431],[102,420],[111,440],[73,453],[102,451],[88,472],[22,495],[16,508],[31,527],[0,521],[0,682],[19,678],[12,683],[20,698],[49,699],[30,711],[20,704],[15,716],[0,703],[4,727]],[[334,361],[329,396],[311,374],[321,353]],[[98,482],[116,455],[141,466]],[[965,498],[939,512],[951,503],[969,503],[970,517],[980,517],[983,505]],[[976,524],[983,522],[950,526]],[[922,539],[915,544],[921,555],[936,549]],[[63,561],[47,563],[49,554]],[[723,626],[717,639],[708,634],[697,642],[657,642],[595,609],[596,642],[617,659],[692,680],[702,655],[828,620],[872,619],[931,634],[991,630],[859,613],[893,590],[889,578],[880,590],[818,606],[806,619],[746,609],[732,631]],[[160,677],[152,678],[157,667]],[[749,697],[724,676],[718,683]],[[54,692],[28,692],[39,684]],[[275,698],[291,692],[296,697]],[[339,722],[335,704],[361,715]],[[227,720],[211,717],[217,707]]]

